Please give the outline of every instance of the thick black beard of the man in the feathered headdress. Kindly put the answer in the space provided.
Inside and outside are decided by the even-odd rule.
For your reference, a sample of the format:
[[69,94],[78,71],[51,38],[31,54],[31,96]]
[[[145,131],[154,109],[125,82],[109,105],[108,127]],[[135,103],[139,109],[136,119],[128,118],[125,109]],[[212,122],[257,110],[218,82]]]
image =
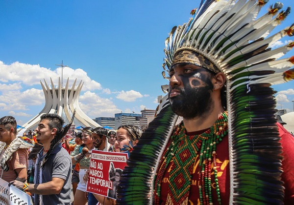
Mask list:
[[197,88],[186,86],[185,89],[182,88],[179,91],[179,95],[170,99],[171,107],[175,114],[185,119],[202,116],[212,106],[212,89],[209,86]]

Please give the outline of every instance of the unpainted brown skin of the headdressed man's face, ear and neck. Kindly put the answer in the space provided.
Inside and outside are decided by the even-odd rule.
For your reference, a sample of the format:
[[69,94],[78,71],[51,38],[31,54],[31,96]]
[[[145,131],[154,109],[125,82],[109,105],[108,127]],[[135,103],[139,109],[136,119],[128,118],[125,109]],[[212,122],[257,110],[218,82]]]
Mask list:
[[[192,72],[196,72],[197,69],[201,67],[193,64],[176,64],[170,70],[170,89],[175,85],[178,88],[185,88],[185,83],[189,81],[192,88],[197,89],[197,87],[203,86],[205,82],[202,79],[196,78],[195,75],[189,75]],[[201,73],[201,75],[210,75],[209,72]],[[199,81],[198,84],[192,83],[193,80]],[[221,106],[221,88],[224,86],[226,81],[225,75],[223,73],[218,73],[215,77],[211,77],[210,81],[213,85],[211,98],[212,106],[209,107],[209,110],[199,116],[195,116],[193,119],[183,119],[185,128],[187,132],[194,132],[206,129],[211,127],[224,112],[224,108]],[[173,98],[176,98],[180,95],[177,89],[171,89],[170,92],[170,101],[172,102]],[[184,102],[183,102],[184,103]]]

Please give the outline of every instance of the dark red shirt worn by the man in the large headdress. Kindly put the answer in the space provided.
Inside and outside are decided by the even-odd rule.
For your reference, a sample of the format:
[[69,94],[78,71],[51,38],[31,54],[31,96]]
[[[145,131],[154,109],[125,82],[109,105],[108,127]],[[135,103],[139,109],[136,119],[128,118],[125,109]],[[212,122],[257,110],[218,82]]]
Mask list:
[[[278,130],[279,136],[281,137],[281,143],[283,147],[283,157],[282,168],[284,173],[282,174],[282,180],[284,181],[285,186],[285,205],[294,205],[294,137],[279,123]],[[192,134],[191,134],[192,135]],[[195,135],[193,133],[193,135]],[[169,147],[171,142],[166,146]],[[166,149],[165,148],[165,149]],[[227,205],[229,204],[229,196],[230,196],[230,173],[229,173],[229,153],[228,153],[228,137],[225,136],[221,143],[217,145],[217,170],[218,170],[218,180],[220,186],[220,194],[221,194],[221,204]],[[198,190],[198,163],[199,156],[197,156],[196,163],[194,165],[194,172],[192,175],[192,184],[189,195],[189,204],[198,205],[200,204],[199,200],[199,190]],[[173,162],[171,161],[168,166],[163,181],[161,183],[161,194],[160,194],[160,202],[161,204],[166,204],[168,189],[169,189],[169,177],[170,170],[173,166]],[[212,173],[212,182],[215,182],[214,174]],[[212,184],[212,198],[213,203],[218,204],[217,194],[215,190],[215,183]]]

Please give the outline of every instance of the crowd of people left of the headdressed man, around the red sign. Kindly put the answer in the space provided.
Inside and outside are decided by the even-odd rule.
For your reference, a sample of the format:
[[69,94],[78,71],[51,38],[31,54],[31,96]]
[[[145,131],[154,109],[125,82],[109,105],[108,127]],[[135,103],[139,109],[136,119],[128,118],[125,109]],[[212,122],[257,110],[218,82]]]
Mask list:
[[[140,127],[123,125],[117,132],[103,127],[83,127],[73,132],[74,143],[69,143],[73,138],[60,136],[63,124],[63,119],[56,114],[42,115],[32,134],[36,137],[35,143],[33,137],[25,134],[17,137],[14,117],[1,118],[1,179],[31,195],[34,205],[113,203],[113,199],[86,192],[87,180],[84,176],[88,176],[91,152],[96,149],[129,153],[140,139]],[[54,138],[60,140],[53,141]],[[20,146],[9,149],[14,144]],[[115,171],[115,174],[118,173],[121,175],[122,170]],[[119,178],[115,177],[114,184],[118,181]],[[116,198],[116,190],[111,190],[109,196]]]

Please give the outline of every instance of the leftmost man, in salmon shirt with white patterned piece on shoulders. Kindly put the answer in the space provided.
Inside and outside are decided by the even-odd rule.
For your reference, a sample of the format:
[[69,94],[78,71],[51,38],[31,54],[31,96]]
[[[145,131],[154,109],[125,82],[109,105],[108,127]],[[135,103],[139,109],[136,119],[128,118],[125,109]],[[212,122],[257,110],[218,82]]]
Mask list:
[[6,182],[25,182],[28,167],[28,148],[33,144],[16,137],[17,124],[12,116],[0,119],[0,178]]

